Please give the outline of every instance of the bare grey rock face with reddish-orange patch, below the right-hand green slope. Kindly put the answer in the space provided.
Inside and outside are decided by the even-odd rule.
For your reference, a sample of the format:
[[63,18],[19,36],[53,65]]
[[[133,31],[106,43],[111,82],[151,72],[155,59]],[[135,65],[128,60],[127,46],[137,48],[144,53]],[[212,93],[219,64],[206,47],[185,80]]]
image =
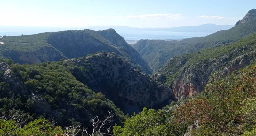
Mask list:
[[234,56],[245,51],[244,48],[246,47],[234,50],[234,54],[229,56],[224,55],[208,62],[200,61],[195,65],[183,67],[180,77],[176,79],[173,85],[173,92],[176,98],[180,99],[184,96],[193,96],[194,93],[202,92],[211,75],[215,72],[219,71],[220,78],[252,64],[256,57],[255,49],[233,59]]

